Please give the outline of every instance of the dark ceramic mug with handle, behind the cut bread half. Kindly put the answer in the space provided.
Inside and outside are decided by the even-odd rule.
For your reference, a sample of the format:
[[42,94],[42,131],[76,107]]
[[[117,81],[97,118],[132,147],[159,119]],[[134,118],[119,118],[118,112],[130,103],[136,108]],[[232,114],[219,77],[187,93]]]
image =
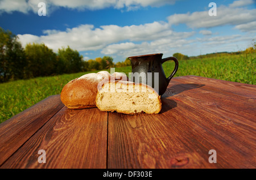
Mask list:
[[[166,92],[170,80],[179,67],[177,58],[168,57],[162,59],[162,56],[162,53],[158,53],[129,57],[133,72],[131,76],[133,82],[150,85],[159,95],[163,95],[163,93]],[[169,60],[175,62],[175,68],[174,71],[172,71],[172,74],[166,78],[162,64]]]

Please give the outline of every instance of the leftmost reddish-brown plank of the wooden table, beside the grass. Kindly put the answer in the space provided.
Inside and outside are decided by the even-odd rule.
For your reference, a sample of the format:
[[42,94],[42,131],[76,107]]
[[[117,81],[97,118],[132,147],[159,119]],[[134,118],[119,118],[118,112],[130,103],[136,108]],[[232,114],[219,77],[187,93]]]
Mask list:
[[0,124],[0,165],[24,142],[39,130],[63,104],[60,96],[49,96],[43,101]]

